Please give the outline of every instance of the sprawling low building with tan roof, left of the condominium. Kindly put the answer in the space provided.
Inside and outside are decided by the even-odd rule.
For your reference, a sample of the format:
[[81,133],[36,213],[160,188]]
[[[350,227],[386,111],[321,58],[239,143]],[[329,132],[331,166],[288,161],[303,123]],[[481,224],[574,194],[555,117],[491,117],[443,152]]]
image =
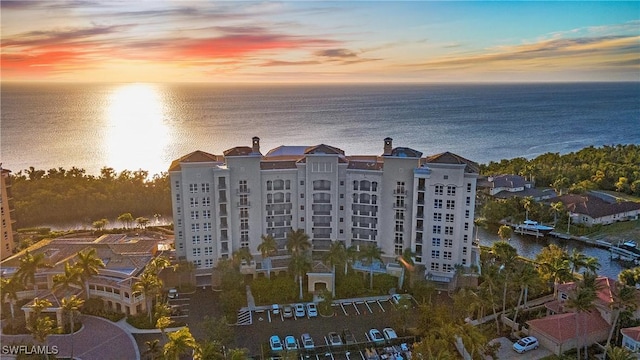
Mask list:
[[[133,284],[145,266],[156,255],[158,238],[129,237],[123,234],[103,235],[99,238],[56,238],[41,240],[31,246],[28,251],[32,254],[43,253],[45,262],[50,268],[39,269],[36,273],[37,290],[32,284],[18,293],[20,299],[46,298],[53,306],[46,312],[56,312],[61,316],[60,300],[65,296],[76,294],[84,297],[84,288],[75,286],[65,293],[52,293],[53,278],[64,273],[65,263],[76,261],[79,252],[94,248],[97,256],[102,259],[105,268],[100,269],[98,275],[89,282],[89,295],[103,300],[106,307],[113,311],[127,315],[135,315],[146,311],[143,295],[134,295]],[[21,251],[0,263],[2,276],[8,277],[18,271],[20,259],[25,251]],[[27,303],[22,307],[25,315],[31,311]]]

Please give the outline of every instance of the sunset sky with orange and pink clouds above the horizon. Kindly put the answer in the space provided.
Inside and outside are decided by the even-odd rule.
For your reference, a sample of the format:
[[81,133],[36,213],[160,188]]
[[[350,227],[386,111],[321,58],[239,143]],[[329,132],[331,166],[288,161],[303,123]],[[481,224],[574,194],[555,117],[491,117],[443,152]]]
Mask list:
[[640,80],[640,2],[2,0],[2,81]]

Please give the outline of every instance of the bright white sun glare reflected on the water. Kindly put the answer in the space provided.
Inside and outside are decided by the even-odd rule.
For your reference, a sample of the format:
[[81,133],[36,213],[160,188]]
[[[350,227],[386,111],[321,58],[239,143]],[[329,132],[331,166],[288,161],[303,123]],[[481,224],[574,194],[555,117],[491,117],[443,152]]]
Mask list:
[[152,84],[127,84],[109,95],[104,132],[105,163],[115,169],[132,169],[128,159],[145,159],[146,169],[163,168],[164,150],[171,135],[166,106]]

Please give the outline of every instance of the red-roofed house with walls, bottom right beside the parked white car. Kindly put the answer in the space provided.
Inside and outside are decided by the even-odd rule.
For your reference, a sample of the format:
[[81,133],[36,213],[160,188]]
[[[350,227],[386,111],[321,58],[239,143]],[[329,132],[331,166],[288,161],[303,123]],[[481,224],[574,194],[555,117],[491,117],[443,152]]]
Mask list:
[[[576,314],[573,309],[565,305],[576,283],[559,285],[557,299],[545,304],[549,315],[542,319],[527,321],[529,335],[538,338],[542,346],[556,355],[574,349],[576,339],[580,339],[580,346],[585,342],[588,346],[606,341],[614,317],[610,307],[613,301],[612,292],[616,291],[618,285],[615,279],[607,277],[598,277],[596,282],[600,289],[593,303],[595,309],[580,314]],[[637,296],[640,301],[640,292]],[[635,315],[640,315],[640,310],[636,310]],[[576,321],[578,321],[577,332]]]

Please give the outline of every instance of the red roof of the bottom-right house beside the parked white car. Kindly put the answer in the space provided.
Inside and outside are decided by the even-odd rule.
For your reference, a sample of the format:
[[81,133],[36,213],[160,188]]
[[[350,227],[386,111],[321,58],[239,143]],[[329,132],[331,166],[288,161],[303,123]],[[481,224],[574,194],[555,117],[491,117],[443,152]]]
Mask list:
[[600,316],[598,311],[583,313],[565,313],[549,315],[541,319],[529,320],[527,324],[531,328],[546,334],[555,339],[557,343],[563,343],[576,337],[576,319],[580,322],[578,325],[587,325],[586,332],[584,326],[580,326],[580,336],[583,334],[592,334],[609,329],[609,324]]

